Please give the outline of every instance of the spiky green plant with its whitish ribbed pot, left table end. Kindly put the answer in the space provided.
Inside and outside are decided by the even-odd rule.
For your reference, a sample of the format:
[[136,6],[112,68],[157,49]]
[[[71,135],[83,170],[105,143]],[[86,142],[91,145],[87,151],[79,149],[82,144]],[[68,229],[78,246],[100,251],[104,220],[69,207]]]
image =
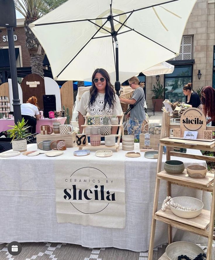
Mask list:
[[25,152],[27,151],[27,140],[26,138],[31,134],[27,130],[30,126],[26,125],[24,118],[22,118],[21,122],[17,122],[14,126],[11,126],[12,129],[7,130],[10,133],[10,137],[13,138],[12,148],[13,151]]

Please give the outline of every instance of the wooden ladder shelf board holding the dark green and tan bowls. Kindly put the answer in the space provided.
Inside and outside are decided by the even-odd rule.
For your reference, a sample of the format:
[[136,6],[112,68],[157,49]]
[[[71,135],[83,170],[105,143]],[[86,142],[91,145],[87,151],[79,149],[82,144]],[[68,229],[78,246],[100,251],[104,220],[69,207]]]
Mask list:
[[160,179],[165,179],[166,181],[174,181],[174,183],[181,183],[181,181],[183,181],[184,184],[196,184],[206,187],[209,187],[214,181],[214,174],[212,173],[207,172],[205,178],[196,179],[188,176],[186,169],[183,171],[183,173],[180,174],[169,174],[164,170],[157,173],[157,177]]

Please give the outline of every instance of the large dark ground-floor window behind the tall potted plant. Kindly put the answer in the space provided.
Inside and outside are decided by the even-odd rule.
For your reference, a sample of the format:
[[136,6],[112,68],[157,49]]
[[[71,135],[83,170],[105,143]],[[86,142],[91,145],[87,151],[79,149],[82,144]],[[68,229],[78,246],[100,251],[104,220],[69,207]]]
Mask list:
[[189,82],[192,83],[193,65],[175,65],[171,74],[164,75],[165,99],[170,102],[185,102],[183,95],[183,86]]

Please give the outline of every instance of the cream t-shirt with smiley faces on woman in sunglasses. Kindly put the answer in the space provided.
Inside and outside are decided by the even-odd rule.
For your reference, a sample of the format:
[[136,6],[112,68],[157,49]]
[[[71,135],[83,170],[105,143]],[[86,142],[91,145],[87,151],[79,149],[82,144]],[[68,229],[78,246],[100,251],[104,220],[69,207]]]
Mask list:
[[[120,105],[119,97],[117,94],[115,94],[115,102],[113,103],[113,108],[109,107],[109,104],[107,103],[104,107],[104,100],[105,100],[105,93],[98,93],[95,102],[93,105],[89,107],[89,101],[90,101],[90,91],[84,92],[82,95],[81,100],[79,101],[77,111],[80,112],[83,116],[86,115],[86,113],[89,113],[91,116],[98,115],[100,117],[100,123],[102,124],[103,117],[111,116],[111,115],[121,115],[122,114],[122,107]],[[94,117],[93,121],[94,121]]]

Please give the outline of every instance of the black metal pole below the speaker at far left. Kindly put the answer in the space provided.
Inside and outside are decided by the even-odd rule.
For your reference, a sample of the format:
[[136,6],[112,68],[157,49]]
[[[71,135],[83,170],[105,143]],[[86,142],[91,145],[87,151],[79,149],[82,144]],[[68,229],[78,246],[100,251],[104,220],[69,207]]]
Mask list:
[[16,70],[16,56],[15,56],[15,46],[13,39],[13,27],[7,27],[8,33],[8,48],[9,48],[9,58],[11,67],[11,80],[12,80],[12,90],[13,90],[13,114],[15,124],[22,120],[21,116],[21,104],[18,92],[18,82],[17,82],[17,70]]

